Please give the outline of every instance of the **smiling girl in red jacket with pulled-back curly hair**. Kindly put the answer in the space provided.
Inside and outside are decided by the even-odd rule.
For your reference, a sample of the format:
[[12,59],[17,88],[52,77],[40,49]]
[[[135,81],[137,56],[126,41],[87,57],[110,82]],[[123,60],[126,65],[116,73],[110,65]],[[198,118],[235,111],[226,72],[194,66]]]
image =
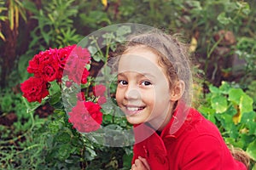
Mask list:
[[189,107],[185,48],[160,31],[132,37],[119,56],[116,100],[134,125],[132,170],[247,169],[218,128]]

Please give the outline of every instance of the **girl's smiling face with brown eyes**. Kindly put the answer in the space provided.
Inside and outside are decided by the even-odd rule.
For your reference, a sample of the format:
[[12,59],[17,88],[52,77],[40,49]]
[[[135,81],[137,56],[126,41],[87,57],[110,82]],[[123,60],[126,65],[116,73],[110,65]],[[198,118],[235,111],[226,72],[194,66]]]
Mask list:
[[148,48],[131,48],[121,56],[116,99],[128,122],[148,122],[158,130],[169,122],[175,101],[165,72]]

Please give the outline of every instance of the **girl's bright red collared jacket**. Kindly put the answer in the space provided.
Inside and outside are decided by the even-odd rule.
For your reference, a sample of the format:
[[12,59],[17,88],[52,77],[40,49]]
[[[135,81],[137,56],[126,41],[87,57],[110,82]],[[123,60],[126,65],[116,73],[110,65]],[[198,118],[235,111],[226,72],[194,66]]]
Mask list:
[[134,145],[132,163],[142,156],[151,170],[246,170],[230,154],[218,128],[195,109],[188,111],[181,123],[175,111],[160,135],[146,124],[134,126],[135,141],[143,141]]

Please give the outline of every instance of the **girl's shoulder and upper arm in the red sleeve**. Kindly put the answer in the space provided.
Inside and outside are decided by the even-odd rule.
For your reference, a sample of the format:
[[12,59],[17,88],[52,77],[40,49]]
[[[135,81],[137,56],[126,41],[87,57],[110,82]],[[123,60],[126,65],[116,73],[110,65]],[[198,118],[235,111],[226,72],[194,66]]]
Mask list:
[[181,169],[239,169],[218,127],[198,111],[191,112],[179,139],[183,148],[180,150]]

